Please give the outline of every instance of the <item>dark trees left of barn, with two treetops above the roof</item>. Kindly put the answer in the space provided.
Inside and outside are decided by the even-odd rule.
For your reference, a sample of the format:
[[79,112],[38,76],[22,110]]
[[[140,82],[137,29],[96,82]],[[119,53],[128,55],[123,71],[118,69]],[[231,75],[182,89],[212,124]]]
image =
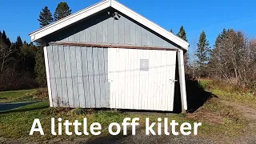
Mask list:
[[[47,26],[71,14],[66,2],[59,2],[54,17],[45,6],[39,14],[39,26]],[[46,86],[46,68],[40,44],[22,41],[20,36],[10,42],[5,30],[0,30],[0,91],[31,89]]]

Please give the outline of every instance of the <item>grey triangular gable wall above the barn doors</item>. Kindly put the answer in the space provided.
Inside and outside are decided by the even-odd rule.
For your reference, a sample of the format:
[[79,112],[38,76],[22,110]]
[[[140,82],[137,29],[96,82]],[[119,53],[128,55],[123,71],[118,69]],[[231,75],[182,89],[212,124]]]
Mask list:
[[59,30],[44,38],[46,42],[99,42],[114,43],[136,46],[161,46],[178,48],[173,42],[168,42],[165,38],[146,29],[138,22],[120,14],[120,18],[114,19],[105,10],[99,14],[75,23],[66,29]]

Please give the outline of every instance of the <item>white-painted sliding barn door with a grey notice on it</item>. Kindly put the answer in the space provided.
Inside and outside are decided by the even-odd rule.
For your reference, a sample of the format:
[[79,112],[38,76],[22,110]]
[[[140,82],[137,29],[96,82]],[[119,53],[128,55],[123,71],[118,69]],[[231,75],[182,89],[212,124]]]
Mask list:
[[110,108],[173,110],[176,51],[108,51]]

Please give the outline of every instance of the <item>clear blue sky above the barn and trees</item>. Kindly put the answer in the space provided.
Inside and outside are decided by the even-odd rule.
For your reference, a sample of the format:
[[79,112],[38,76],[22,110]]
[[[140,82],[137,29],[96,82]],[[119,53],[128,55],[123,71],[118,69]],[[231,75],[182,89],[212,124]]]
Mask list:
[[[100,0],[66,0],[72,13]],[[39,27],[38,15],[44,6],[52,13],[61,0],[2,0],[0,3],[0,30],[6,30],[11,41],[20,35],[30,42],[28,34]],[[198,42],[202,30],[210,45],[223,28],[242,30],[249,38],[256,36],[256,2],[254,0],[118,0],[130,9],[162,26],[173,28],[176,34],[184,26],[190,48]]]

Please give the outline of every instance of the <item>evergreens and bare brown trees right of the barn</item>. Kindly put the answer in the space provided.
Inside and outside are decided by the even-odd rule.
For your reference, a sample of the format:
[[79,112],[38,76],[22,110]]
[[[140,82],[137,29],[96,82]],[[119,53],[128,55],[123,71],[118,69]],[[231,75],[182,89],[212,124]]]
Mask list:
[[[170,30],[173,33],[173,30]],[[184,27],[178,37],[187,41]],[[213,47],[202,30],[195,49],[184,56],[186,74],[194,78],[225,80],[243,88],[256,88],[256,39],[242,31],[223,29]]]

